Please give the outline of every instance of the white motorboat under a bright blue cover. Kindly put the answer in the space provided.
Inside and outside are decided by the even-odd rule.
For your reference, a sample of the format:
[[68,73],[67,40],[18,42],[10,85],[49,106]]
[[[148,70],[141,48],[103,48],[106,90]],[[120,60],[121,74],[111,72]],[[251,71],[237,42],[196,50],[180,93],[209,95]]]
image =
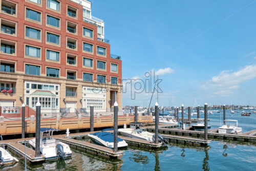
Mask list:
[[[93,134],[88,134],[88,137],[91,138],[91,140],[99,144],[101,146],[105,146],[108,148],[114,148],[114,135],[111,134],[110,132],[105,132],[105,131],[112,131],[114,129],[105,129],[102,130],[101,132],[96,132]],[[121,138],[117,138],[117,147],[126,147],[128,144]]]

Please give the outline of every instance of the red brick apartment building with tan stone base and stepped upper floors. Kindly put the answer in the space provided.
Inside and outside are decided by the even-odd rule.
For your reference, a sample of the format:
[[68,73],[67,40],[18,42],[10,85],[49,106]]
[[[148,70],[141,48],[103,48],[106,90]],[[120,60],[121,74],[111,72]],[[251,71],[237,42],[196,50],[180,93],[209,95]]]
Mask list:
[[87,0],[0,0],[1,115],[110,112],[122,105],[122,62]]

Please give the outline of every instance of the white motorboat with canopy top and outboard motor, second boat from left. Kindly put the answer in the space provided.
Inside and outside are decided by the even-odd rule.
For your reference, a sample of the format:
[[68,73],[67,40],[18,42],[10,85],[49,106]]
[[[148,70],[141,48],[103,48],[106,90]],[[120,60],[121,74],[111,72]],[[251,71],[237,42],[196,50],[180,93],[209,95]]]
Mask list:
[[[59,130],[49,127],[40,128],[40,153],[45,157],[45,160],[66,159],[71,157],[72,151],[69,145],[52,137],[54,131]],[[29,144],[35,148],[35,138],[29,140]]]

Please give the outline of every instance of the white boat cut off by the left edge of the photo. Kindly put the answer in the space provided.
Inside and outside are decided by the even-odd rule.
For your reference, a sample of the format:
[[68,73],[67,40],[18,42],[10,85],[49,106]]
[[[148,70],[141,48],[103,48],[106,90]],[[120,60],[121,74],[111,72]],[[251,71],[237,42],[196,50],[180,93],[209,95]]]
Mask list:
[[[0,135],[1,141],[3,141],[3,137],[2,135]],[[12,157],[12,155],[7,151],[7,149],[5,149],[5,145],[3,145],[2,147],[0,146],[0,166],[3,165],[11,165],[11,164],[15,164],[16,162],[18,162],[18,160],[15,157]]]

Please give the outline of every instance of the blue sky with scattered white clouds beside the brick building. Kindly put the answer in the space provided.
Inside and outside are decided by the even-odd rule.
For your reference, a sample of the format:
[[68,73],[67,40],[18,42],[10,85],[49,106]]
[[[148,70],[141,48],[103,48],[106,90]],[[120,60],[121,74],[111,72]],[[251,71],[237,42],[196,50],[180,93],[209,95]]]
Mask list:
[[[160,69],[159,105],[256,105],[256,2],[92,1],[105,22],[111,53],[122,58],[122,77],[145,79]],[[166,72],[165,72],[166,71]],[[124,105],[148,105],[151,94]],[[153,96],[153,104],[156,95]]]

